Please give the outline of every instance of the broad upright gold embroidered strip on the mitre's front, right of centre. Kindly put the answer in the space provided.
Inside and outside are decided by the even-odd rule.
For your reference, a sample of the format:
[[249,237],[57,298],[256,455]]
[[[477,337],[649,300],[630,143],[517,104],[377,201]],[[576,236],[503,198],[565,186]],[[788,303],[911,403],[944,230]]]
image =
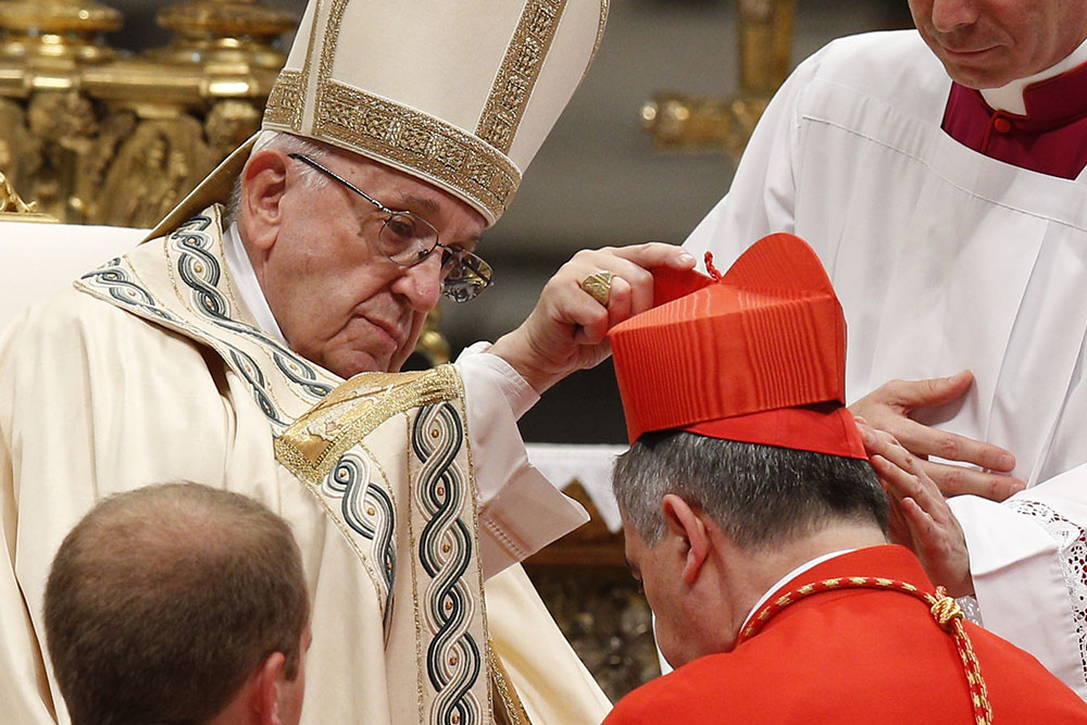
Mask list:
[[476,136],[502,153],[513,146],[565,8],[566,0],[529,0],[521,13],[476,127]]

